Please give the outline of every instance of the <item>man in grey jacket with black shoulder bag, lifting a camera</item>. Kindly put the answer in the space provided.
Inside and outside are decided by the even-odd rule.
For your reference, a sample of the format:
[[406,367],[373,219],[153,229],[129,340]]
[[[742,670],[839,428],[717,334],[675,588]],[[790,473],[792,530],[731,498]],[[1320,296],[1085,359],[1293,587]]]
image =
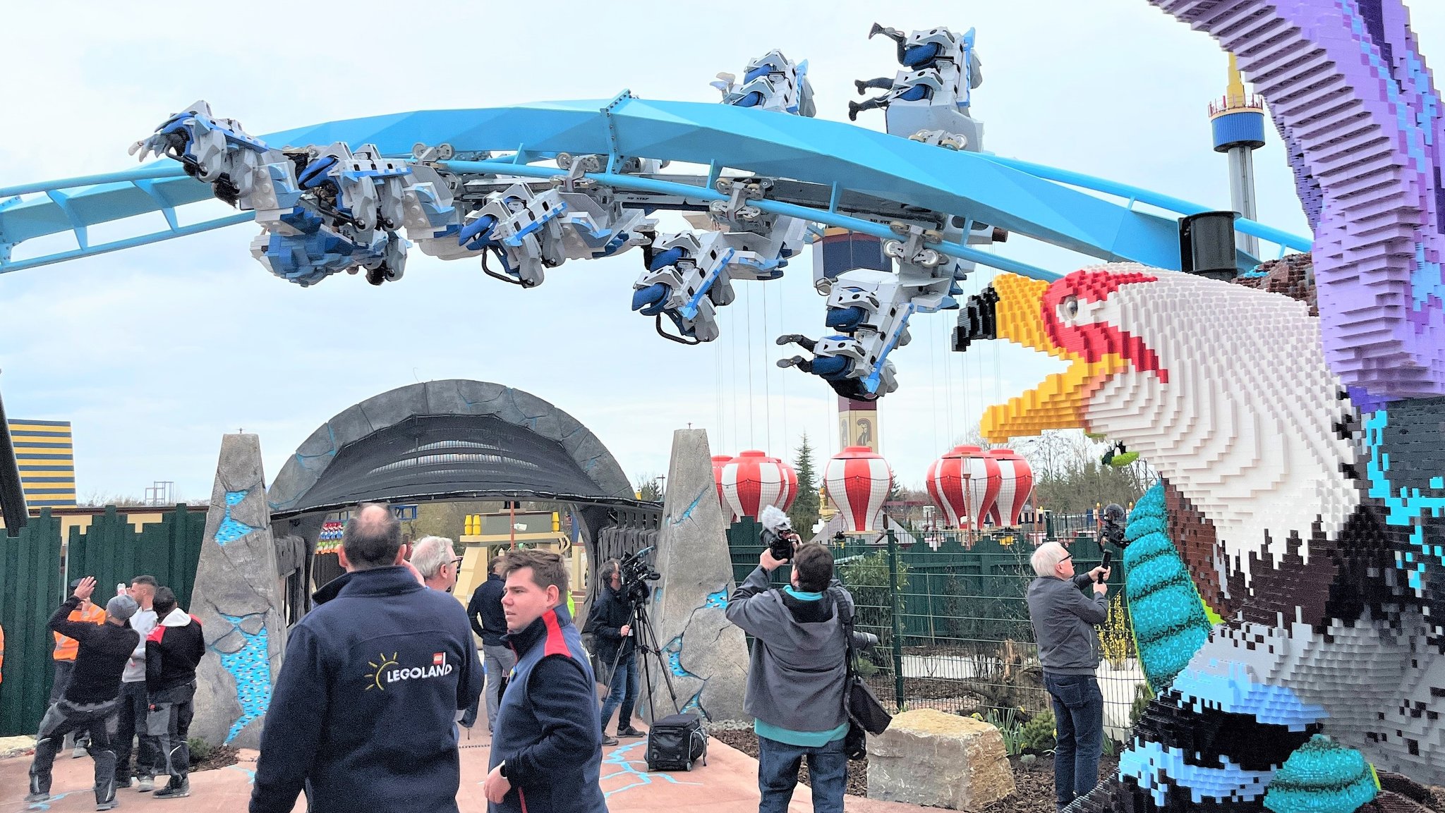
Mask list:
[[842,813],[848,758],[844,687],[848,644],[838,602],[853,609],[853,596],[832,578],[827,547],[793,544],[790,585],[769,589],[769,573],[783,563],[772,547],[727,602],[727,618],[753,635],[743,708],[756,718],[759,813],[783,813],[798,786],[798,767],[808,758],[814,810]]

